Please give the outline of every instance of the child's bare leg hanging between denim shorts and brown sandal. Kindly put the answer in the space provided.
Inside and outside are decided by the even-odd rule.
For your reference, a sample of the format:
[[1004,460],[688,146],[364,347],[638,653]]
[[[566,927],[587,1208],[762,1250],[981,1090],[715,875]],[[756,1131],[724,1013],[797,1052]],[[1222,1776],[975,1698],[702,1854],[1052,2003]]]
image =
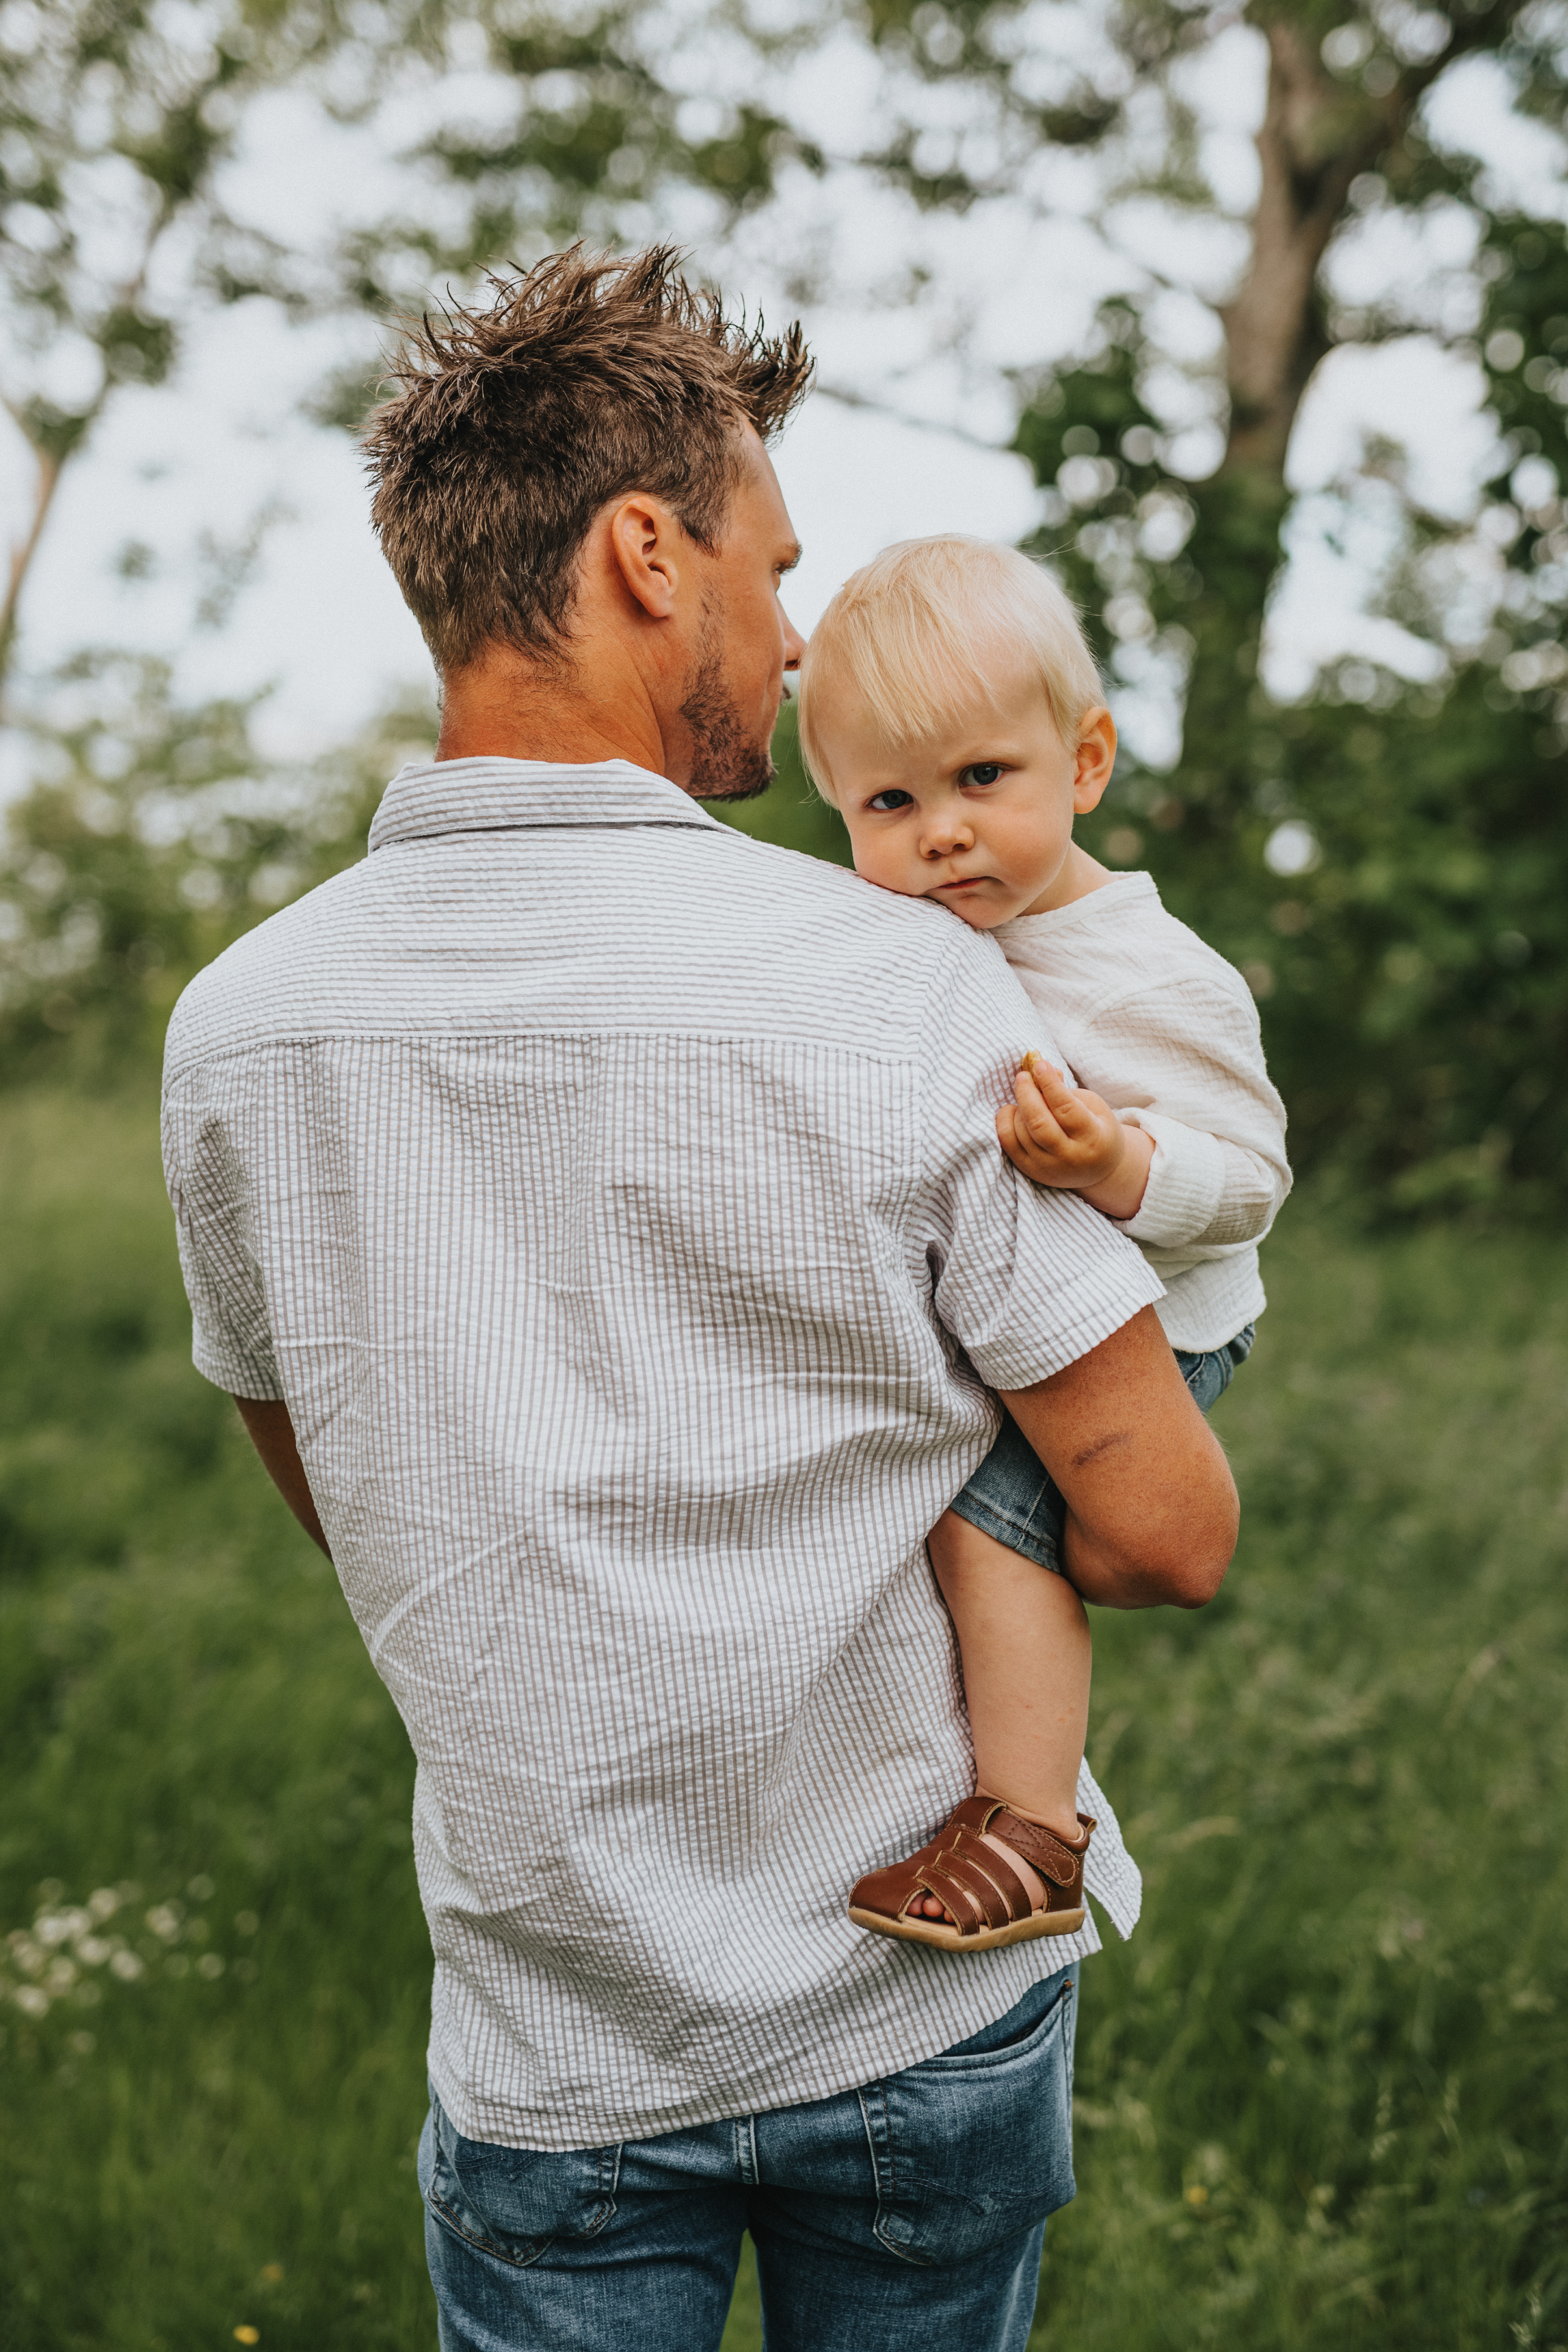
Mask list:
[[[1084,1602],[1065,1576],[1009,1552],[952,1510],[931,1529],[931,1566],[964,1658],[976,1790],[1077,1846],[1093,1665]],[[1027,1863],[1011,1846],[1001,1851],[1030,1893],[1044,1896]],[[943,1910],[931,1896],[922,1907],[931,1917]]]

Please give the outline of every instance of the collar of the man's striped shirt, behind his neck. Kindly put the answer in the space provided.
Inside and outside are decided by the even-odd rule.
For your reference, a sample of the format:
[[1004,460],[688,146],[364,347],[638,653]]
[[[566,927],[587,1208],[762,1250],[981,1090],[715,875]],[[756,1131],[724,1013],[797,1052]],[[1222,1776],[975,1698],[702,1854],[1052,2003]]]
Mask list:
[[369,847],[527,826],[717,826],[668,776],[630,760],[409,760],[386,788]]

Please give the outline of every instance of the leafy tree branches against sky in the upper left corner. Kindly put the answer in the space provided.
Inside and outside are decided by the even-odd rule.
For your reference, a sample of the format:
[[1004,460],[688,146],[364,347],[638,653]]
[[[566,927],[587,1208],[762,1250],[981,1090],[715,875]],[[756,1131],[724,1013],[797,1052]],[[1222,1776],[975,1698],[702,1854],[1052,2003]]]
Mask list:
[[[684,31],[712,31],[691,14]],[[33,461],[0,590],[0,694],[61,475],[120,386],[169,379],[193,320],[270,299],[381,329],[447,282],[576,235],[614,240],[628,205],[710,200],[722,226],[771,191],[799,141],[771,113],[703,113],[649,12],[470,0],[9,0],[0,9],[0,400]],[[465,115],[484,52],[510,120]],[[679,64],[679,59],[677,59]],[[381,134],[388,96],[430,129],[402,158],[414,207],[292,252],[223,202],[256,96],[303,85]],[[456,89],[456,96],[454,96]],[[442,202],[442,193],[456,195]],[[367,341],[378,341],[369,336]],[[376,360],[317,414],[355,426]]]

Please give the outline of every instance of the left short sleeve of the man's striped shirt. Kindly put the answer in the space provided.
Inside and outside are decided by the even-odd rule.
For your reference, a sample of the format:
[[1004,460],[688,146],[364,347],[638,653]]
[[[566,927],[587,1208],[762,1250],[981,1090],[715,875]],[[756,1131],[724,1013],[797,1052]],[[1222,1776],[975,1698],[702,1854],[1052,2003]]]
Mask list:
[[188,1091],[165,1094],[165,1181],[190,1301],[190,1359],[230,1397],[282,1399],[266,1279],[240,1167]]

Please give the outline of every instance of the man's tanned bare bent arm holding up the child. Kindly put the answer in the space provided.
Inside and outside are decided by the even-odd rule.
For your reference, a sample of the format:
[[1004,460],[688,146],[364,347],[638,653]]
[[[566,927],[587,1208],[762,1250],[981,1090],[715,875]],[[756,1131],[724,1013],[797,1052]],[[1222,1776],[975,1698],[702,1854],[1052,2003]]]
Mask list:
[[1067,1498],[1067,1578],[1103,1609],[1201,1609],[1237,1548],[1237,1486],[1154,1308],[1001,1402]]

